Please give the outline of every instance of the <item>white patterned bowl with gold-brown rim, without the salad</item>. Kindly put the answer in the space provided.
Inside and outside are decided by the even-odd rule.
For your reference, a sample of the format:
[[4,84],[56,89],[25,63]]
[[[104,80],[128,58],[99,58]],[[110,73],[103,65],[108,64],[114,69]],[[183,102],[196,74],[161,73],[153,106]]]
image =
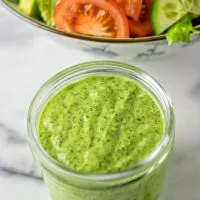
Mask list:
[[[27,23],[46,31],[53,40],[64,45],[66,48],[78,49],[96,56],[111,59],[118,57],[127,57],[133,60],[157,59],[174,54],[200,42],[200,34],[192,35],[189,43],[176,43],[169,46],[165,35],[114,39],[62,32],[40,20],[23,14],[16,4],[13,3],[15,1],[0,0],[0,4]],[[200,30],[200,25],[196,25],[195,28],[196,30]]]

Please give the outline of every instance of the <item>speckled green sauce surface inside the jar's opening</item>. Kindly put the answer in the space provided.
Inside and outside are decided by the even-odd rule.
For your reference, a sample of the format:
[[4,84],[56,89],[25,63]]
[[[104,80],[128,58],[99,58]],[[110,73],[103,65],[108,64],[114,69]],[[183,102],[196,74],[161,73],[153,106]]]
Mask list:
[[66,168],[109,173],[130,168],[161,141],[162,112],[132,80],[90,76],[62,88],[38,124],[44,149]]

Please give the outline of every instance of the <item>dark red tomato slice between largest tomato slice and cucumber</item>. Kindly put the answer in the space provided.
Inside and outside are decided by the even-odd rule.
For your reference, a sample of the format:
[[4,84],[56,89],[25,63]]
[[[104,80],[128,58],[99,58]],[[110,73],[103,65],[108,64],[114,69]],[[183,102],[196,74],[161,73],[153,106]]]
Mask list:
[[136,22],[132,19],[129,19],[129,28],[131,36],[145,37],[153,33],[153,27],[151,23],[152,5],[153,0],[144,0],[143,11],[141,13],[141,20]]

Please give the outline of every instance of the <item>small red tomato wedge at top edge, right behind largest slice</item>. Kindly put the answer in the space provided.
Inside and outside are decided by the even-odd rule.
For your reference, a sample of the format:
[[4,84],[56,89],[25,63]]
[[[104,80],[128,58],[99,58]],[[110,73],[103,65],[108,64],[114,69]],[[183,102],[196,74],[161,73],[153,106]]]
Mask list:
[[116,0],[125,10],[127,16],[139,21],[144,0]]

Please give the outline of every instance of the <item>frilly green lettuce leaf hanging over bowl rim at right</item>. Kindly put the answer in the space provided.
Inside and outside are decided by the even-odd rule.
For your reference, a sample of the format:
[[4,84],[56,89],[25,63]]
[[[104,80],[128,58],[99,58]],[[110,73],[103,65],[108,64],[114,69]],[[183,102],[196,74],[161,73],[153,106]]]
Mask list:
[[176,42],[190,42],[192,33],[196,34],[200,32],[193,27],[189,15],[186,15],[168,29],[166,38],[169,45]]

